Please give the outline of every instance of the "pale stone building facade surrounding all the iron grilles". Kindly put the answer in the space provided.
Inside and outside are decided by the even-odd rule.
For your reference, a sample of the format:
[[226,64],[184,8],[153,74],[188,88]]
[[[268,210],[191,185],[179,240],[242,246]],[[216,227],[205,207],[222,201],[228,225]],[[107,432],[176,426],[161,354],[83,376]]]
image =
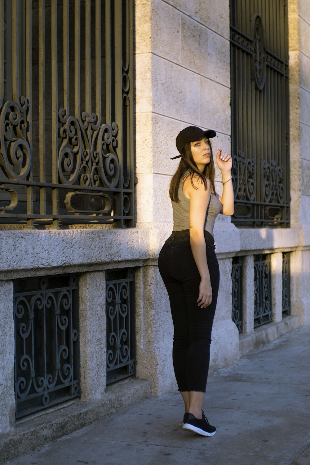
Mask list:
[[[3,17],[5,2],[0,3]],[[40,10],[40,1],[33,1],[33,7],[37,3]],[[245,1],[250,10],[252,3]],[[285,179],[290,183],[290,217],[285,225],[281,225],[277,224],[277,215],[270,219],[269,213],[268,221],[274,220],[274,224],[261,222],[258,226],[255,221],[237,224],[231,222],[231,218],[217,219],[215,240],[221,283],[212,332],[212,370],[234,363],[252,348],[277,339],[298,326],[310,324],[310,191],[307,183],[310,179],[310,7],[307,0],[279,2],[285,3],[284,43],[288,47],[288,63],[283,75],[288,76],[286,117],[289,127]],[[53,13],[53,4],[53,0],[46,2],[46,12],[52,5]],[[101,8],[106,4],[109,2],[101,1]],[[237,8],[241,5],[236,4]],[[258,14],[254,4],[252,13]],[[73,8],[73,2],[68,6]],[[13,220],[10,223],[3,221],[1,226],[0,432],[3,458],[32,448],[33,438],[36,445],[43,444],[138,399],[158,396],[176,388],[171,359],[173,328],[169,302],[157,267],[158,253],[172,229],[168,186],[178,161],[171,160],[171,156],[177,154],[176,135],[187,125],[215,129],[218,135],[213,146],[231,152],[235,136],[231,129],[234,116],[231,106],[233,29],[230,2],[135,0],[130,7],[134,44],[130,85],[134,105],[129,119],[134,124],[131,150],[137,178],[137,183],[132,184],[134,220],[132,223],[124,221],[122,225],[116,220],[95,225],[87,221],[86,224],[77,221],[68,224],[68,221],[60,229],[36,224],[23,229],[23,225]],[[275,12],[259,13],[263,19],[264,15],[270,17],[272,14]],[[249,14],[250,26],[251,18]],[[265,51],[266,45],[263,46],[266,57]],[[40,82],[33,76],[33,93],[39,94]],[[48,88],[46,91],[48,93]],[[117,118],[116,122],[122,127]],[[40,145],[35,139],[33,136],[33,153],[39,151]],[[46,140],[48,143],[50,141]],[[3,177],[2,186],[5,185]],[[270,180],[270,186],[272,183],[275,184],[274,180]],[[38,184],[38,187],[44,186],[43,182]],[[221,193],[219,171],[216,171],[216,189]],[[127,195],[127,191],[124,192],[124,196]],[[29,226],[30,217],[27,218]],[[287,263],[289,268],[285,268]],[[132,271],[128,270],[133,270],[134,281],[130,278]],[[17,348],[14,340],[18,340],[20,329],[16,323],[17,314],[14,328],[13,314],[18,310],[13,307],[13,302],[22,294],[25,297],[27,292],[42,294],[45,284],[36,278],[47,280],[60,276],[63,279],[64,275],[74,277],[73,281],[70,278],[71,284],[66,285],[66,292],[69,288],[71,291],[78,289],[78,304],[73,309],[73,313],[78,312],[79,319],[78,336],[73,337],[79,349],[79,366],[75,374],[79,380],[77,395],[68,400],[64,398],[65,403],[46,402],[46,409],[35,407],[29,415],[21,414],[21,418],[16,419],[14,359]],[[134,282],[130,289],[135,343],[132,342],[133,368],[129,367],[127,374],[133,370],[135,376],[111,384],[106,368],[107,352],[111,349],[107,342],[111,314],[106,290],[111,283],[116,289],[118,280],[126,286]],[[23,282],[26,283],[24,287]],[[57,286],[59,284],[53,289]],[[263,294],[266,292],[262,299],[267,302],[266,306],[270,306],[260,320],[261,325],[257,321],[262,299],[257,297],[257,288]],[[112,300],[120,305],[123,298],[126,300],[124,295],[119,300],[114,296]],[[235,321],[232,319],[233,307],[240,311],[237,319],[235,312]],[[256,310],[258,314],[254,315]],[[29,315],[32,315],[31,311]],[[48,345],[48,334],[46,341]],[[55,363],[53,370],[57,369]],[[29,378],[35,377],[34,369],[27,372]],[[27,405],[23,408],[27,412]]]

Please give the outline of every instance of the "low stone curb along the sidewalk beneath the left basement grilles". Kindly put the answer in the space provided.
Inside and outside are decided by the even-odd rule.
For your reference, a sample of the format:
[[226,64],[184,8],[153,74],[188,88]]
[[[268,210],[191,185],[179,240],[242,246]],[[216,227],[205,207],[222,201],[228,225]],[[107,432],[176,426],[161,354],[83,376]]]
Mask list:
[[0,463],[38,449],[150,395],[149,381],[129,378],[107,387],[100,401],[59,404],[52,412],[48,409],[40,415],[30,415],[0,438]]

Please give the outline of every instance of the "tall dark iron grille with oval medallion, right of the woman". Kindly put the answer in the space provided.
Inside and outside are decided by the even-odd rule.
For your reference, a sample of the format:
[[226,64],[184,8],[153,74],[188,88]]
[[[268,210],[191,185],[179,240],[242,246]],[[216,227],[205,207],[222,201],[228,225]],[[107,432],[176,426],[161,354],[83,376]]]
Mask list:
[[286,1],[231,0],[230,7],[232,221],[288,227]]

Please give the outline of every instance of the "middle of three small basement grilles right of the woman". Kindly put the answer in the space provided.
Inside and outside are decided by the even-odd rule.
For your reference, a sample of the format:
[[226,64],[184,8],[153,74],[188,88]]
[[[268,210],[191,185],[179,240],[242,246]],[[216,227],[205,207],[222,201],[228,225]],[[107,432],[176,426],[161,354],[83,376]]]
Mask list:
[[270,255],[254,256],[254,328],[272,321]]

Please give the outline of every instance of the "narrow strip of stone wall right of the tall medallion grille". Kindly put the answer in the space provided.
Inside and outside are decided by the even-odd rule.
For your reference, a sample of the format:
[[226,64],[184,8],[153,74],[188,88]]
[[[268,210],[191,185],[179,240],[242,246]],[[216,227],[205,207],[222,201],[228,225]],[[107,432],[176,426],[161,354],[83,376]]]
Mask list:
[[292,306],[303,324],[310,323],[310,5],[290,0],[290,193],[291,227],[300,230],[292,254]]

